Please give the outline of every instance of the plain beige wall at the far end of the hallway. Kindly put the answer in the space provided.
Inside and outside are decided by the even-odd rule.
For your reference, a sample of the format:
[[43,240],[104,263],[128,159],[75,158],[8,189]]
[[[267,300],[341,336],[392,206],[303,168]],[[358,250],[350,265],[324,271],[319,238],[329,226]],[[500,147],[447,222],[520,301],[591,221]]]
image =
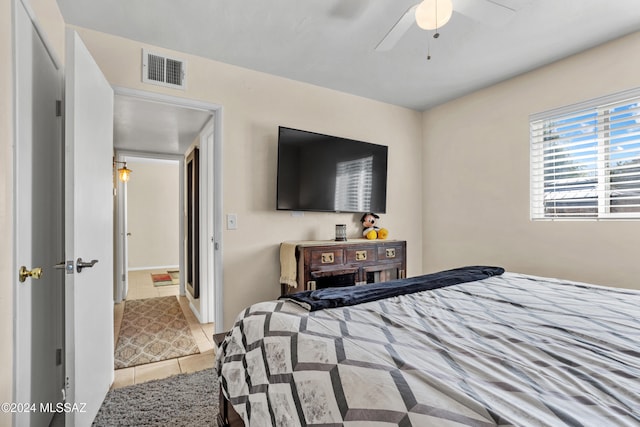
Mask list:
[[128,267],[177,266],[180,261],[180,171],[177,161],[127,160]]

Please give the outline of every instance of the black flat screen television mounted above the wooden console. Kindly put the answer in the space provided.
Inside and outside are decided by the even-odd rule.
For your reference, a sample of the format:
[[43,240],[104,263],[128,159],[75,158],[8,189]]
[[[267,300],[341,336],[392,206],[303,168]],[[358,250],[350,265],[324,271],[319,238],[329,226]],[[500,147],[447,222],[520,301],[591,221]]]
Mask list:
[[277,209],[387,209],[385,145],[279,127]]

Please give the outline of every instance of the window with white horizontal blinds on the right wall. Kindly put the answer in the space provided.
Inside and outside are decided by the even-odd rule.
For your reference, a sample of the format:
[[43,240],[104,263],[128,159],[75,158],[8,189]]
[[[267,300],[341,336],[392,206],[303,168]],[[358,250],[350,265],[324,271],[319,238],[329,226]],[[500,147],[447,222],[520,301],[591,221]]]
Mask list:
[[[624,92],[615,93],[612,95],[592,99],[589,101],[585,101],[579,104],[574,104],[562,108],[556,108],[553,110],[532,114],[529,117],[529,141],[530,141],[530,218],[532,220],[609,220],[609,219],[640,219],[640,197],[636,202],[638,206],[635,207],[635,212],[611,212],[610,202],[612,200],[611,195],[611,181],[609,179],[610,172],[617,166],[611,166],[612,163],[609,163],[609,156],[613,153],[612,148],[615,144],[611,144],[611,141],[615,139],[620,139],[620,136],[612,137],[610,135],[610,123],[609,123],[609,113],[615,107],[619,107],[621,105],[633,105],[635,104],[635,111],[630,110],[634,116],[632,119],[626,119],[627,121],[635,120],[636,125],[632,125],[632,131],[630,132],[630,136],[633,137],[633,142],[629,144],[635,144],[636,142],[640,146],[640,88],[635,88],[631,90],[627,90]],[[620,112],[612,113],[611,116],[617,118],[621,115]],[[588,121],[595,121],[595,125],[593,126],[593,138],[591,141],[597,143],[596,154],[589,154],[593,152],[593,148],[585,150],[586,153],[582,156],[584,163],[583,166],[588,166],[590,170],[594,171],[595,174],[591,178],[582,178],[584,180],[585,185],[581,186],[579,178],[571,177],[575,175],[575,173],[564,172],[564,174],[568,175],[568,178],[565,179],[565,182],[571,180],[577,180],[576,182],[569,183],[568,185],[565,182],[562,182],[561,178],[553,176],[551,178],[553,185],[558,185],[563,191],[560,189],[558,191],[549,191],[548,188],[545,190],[545,173],[546,178],[549,179],[549,167],[545,170],[545,147],[547,148],[546,154],[549,156],[551,150],[554,148],[550,148],[547,142],[545,135],[548,135],[545,131],[552,130],[555,132],[554,135],[559,137],[560,146],[563,144],[564,147],[568,148],[568,153],[571,153],[572,161],[576,162],[576,159],[581,159],[580,157],[580,149],[576,148],[576,145],[579,143],[575,142],[579,140],[578,137],[565,137],[558,130],[562,127],[560,123],[564,123],[567,118],[572,116],[589,116],[593,115],[593,120],[585,119],[584,122],[578,122],[580,124],[585,124]],[[588,134],[588,132],[585,132]],[[558,136],[560,135],[560,136]],[[625,134],[625,137],[627,135]],[[627,147],[627,142],[625,142],[625,148]],[[620,147],[618,147],[620,148]],[[640,161],[640,150],[637,147],[629,147],[631,148],[631,152],[634,150],[638,151],[637,154],[630,155],[630,157],[625,158],[626,161],[629,160],[639,160]],[[595,160],[590,160],[594,159]],[[561,159],[561,158],[560,158]],[[547,157],[547,162],[549,162],[549,157]],[[554,160],[555,161],[555,160]],[[576,164],[579,163],[579,160]],[[639,163],[640,165],[640,163]],[[558,170],[562,169],[562,167],[558,166],[552,168],[553,173],[562,174],[562,172],[558,172]],[[597,182],[593,182],[597,178]],[[562,185],[565,184],[565,187]],[[595,184],[595,186],[594,186]],[[635,183],[637,185],[638,192],[640,192],[640,182]],[[567,187],[577,186],[578,190],[568,191]],[[585,189],[580,187],[586,187],[587,185],[591,185],[594,188]],[[635,190],[636,188],[633,188]],[[622,190],[624,191],[624,190]],[[573,194],[571,194],[573,193]],[[577,194],[576,194],[577,193]],[[635,196],[635,195],[634,195]],[[632,196],[632,197],[634,197]],[[582,197],[582,199],[580,199]],[[580,200],[588,200],[597,197],[597,204],[594,203],[590,206],[597,206],[597,212],[591,214],[580,214],[579,212],[575,212],[574,214],[570,213],[553,213],[546,211],[545,201],[548,200],[576,200],[579,202]],[[635,196],[638,197],[638,196]],[[562,209],[562,208],[561,208]],[[566,208],[565,208],[566,209]],[[574,209],[576,209],[574,207]],[[566,209],[570,210],[570,209]],[[576,209],[577,211],[577,209]]]

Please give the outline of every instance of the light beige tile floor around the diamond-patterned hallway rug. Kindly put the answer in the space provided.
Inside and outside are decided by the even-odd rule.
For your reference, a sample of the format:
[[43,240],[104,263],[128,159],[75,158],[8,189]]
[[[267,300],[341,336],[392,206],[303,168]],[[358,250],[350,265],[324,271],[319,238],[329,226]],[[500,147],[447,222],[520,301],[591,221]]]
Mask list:
[[[213,323],[200,324],[189,308],[189,300],[178,296],[179,285],[153,286],[151,273],[166,273],[166,270],[140,270],[129,272],[129,294],[127,299],[144,299],[175,295],[180,301],[191,333],[200,349],[200,354],[180,357],[178,359],[163,360],[131,368],[116,369],[112,388],[125,387],[145,381],[166,378],[180,373],[195,372],[212,368],[215,359],[213,344]],[[118,341],[118,333],[122,322],[124,304],[116,304],[114,308],[114,338]]]

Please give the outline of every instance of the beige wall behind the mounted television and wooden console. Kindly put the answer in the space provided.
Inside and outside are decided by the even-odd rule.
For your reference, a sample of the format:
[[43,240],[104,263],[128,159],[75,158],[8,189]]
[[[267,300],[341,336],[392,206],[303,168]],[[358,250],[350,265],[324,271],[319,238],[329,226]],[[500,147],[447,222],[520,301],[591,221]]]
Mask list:
[[224,230],[225,327],[245,306],[279,296],[279,244],[330,239],[335,224],[360,233],[356,214],[276,211],[278,125],[388,145],[388,210],[381,217],[390,238],[406,239],[408,272],[422,271],[420,113],[364,98],[163,49],[187,60],[187,89],[140,82],[141,43],[79,29],[113,85],[193,98],[223,106],[223,210],[238,215]]

